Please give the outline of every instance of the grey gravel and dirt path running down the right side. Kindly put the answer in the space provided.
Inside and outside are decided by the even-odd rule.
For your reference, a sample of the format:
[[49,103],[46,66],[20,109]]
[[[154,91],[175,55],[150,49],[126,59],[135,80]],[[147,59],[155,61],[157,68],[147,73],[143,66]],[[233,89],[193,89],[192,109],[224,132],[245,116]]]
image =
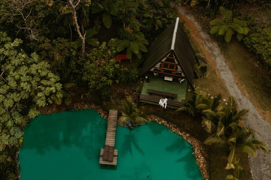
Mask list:
[[[185,9],[181,6],[178,7],[180,13],[180,19],[186,21],[185,25],[192,29],[191,36],[198,41],[199,46],[204,50],[209,63],[212,66],[216,66],[222,79],[230,92],[239,103],[241,109],[249,109],[247,121],[245,122],[250,128],[256,129],[261,132],[262,135],[255,135],[261,141],[264,141],[269,149],[271,148],[271,138],[269,133],[271,132],[271,125],[264,121],[263,117],[260,116],[257,109],[253,104],[244,96],[238,86],[235,84],[233,74],[230,68],[225,62],[225,58],[220,51],[216,42],[213,42],[210,36],[200,27],[200,25],[194,20],[193,16],[189,15]],[[207,52],[206,52],[207,51]],[[250,173],[252,179],[269,180],[271,179],[271,154],[260,151],[257,157],[251,157],[249,155]]]

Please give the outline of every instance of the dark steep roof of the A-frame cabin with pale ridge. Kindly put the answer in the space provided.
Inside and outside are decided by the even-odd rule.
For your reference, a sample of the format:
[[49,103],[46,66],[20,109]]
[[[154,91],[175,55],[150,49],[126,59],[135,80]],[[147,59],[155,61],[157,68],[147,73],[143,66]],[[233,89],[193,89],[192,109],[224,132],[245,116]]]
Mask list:
[[169,52],[173,52],[183,73],[192,86],[195,52],[186,36],[182,23],[177,18],[150,45],[141,75],[149,71]]

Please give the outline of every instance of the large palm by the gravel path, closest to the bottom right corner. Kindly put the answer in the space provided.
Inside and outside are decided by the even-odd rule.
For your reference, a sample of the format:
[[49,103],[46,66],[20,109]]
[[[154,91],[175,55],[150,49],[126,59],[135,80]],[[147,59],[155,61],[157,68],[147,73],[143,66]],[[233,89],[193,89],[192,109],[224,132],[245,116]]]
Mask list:
[[246,152],[253,156],[256,156],[257,150],[260,149],[265,152],[269,152],[264,142],[251,137],[254,132],[260,134],[256,130],[240,127],[237,125],[232,126],[232,128],[233,134],[228,139],[226,139],[224,134],[221,136],[212,134],[205,141],[205,144],[207,145],[216,144],[220,147],[225,147],[230,150],[228,164],[225,169],[234,169],[235,167],[238,167],[238,158],[236,156],[236,152]]

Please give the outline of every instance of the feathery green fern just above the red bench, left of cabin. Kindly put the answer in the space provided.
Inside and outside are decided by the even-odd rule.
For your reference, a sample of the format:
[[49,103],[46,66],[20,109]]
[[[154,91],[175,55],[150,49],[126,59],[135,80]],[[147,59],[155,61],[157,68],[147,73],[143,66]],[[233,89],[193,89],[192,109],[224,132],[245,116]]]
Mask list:
[[111,44],[117,48],[118,52],[126,49],[127,58],[130,59],[133,54],[141,58],[141,52],[147,52],[145,45],[149,43],[143,33],[121,28],[120,39],[115,39],[114,43],[111,40]]

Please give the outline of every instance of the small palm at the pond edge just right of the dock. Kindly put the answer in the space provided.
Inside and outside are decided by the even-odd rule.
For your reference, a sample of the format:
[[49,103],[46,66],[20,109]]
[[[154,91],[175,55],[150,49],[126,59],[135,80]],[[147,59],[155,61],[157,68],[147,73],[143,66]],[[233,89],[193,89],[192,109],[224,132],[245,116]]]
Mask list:
[[130,120],[133,124],[141,124],[148,121],[146,115],[142,112],[139,112],[135,104],[133,104],[131,97],[123,99],[122,103],[125,109],[124,111],[126,116],[121,116],[121,121],[128,122]]

